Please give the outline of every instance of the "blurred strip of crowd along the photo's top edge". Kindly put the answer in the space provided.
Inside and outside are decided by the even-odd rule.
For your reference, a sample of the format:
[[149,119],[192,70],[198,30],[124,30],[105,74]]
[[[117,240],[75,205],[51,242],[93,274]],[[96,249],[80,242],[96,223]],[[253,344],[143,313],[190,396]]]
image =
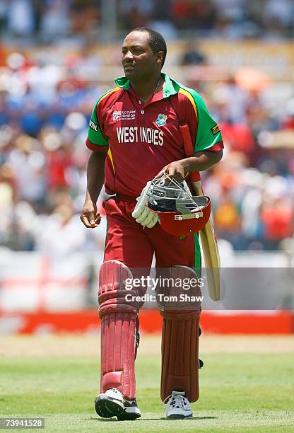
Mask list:
[[[42,42],[62,37],[97,40],[107,2],[0,0],[1,36],[23,42],[32,37]],[[110,6],[118,33],[149,26],[167,39],[182,33],[231,39],[293,37],[292,0],[112,0]]]

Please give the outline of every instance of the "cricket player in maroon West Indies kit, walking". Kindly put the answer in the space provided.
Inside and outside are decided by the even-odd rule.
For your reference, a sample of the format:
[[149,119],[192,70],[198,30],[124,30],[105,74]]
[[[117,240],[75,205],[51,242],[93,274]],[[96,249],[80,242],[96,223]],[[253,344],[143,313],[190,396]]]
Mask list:
[[[138,268],[149,270],[153,254],[156,267],[170,270],[170,275],[201,267],[198,236],[164,231],[158,214],[140,197],[158,173],[182,182],[187,173],[206,170],[223,155],[220,130],[201,96],[163,74],[166,54],[163,36],[151,29],[136,28],[127,35],[122,44],[124,76],[95,104],[86,141],[92,151],[81,211],[86,227],[100,224],[96,202],[103,184],[112,196],[103,203],[107,238],[99,280],[101,379],[95,410],[118,420],[141,416],[134,369],[140,306],[126,301],[125,280]],[[189,158],[179,131],[182,122],[189,125],[194,144]],[[200,312],[200,303],[187,312],[160,312],[160,395],[167,403],[167,418],[192,417],[190,403],[198,398]]]

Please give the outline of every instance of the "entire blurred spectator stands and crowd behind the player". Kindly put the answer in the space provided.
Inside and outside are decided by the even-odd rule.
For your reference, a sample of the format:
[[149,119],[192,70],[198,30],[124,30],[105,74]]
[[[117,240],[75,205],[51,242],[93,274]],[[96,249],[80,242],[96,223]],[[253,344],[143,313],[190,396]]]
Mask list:
[[0,332],[95,308],[106,222],[79,220],[85,139],[138,26],[163,34],[164,71],[223,133],[223,161],[203,175],[223,267],[293,267],[292,0],[0,0]]

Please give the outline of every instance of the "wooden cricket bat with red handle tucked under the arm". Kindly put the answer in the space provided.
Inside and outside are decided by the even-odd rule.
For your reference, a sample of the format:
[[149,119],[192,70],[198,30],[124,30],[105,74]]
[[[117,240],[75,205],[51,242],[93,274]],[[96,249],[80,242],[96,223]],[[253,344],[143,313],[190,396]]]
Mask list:
[[[180,132],[184,141],[184,151],[189,158],[194,154],[194,146],[192,144],[189,125],[183,123],[180,125]],[[199,172],[189,173],[192,180],[192,186],[196,195],[204,195],[201,187],[201,178]],[[207,271],[207,286],[208,294],[213,301],[220,300],[220,256],[218,253],[218,243],[214,234],[211,219],[208,219],[204,229],[200,231],[201,246],[204,253],[205,266]]]

